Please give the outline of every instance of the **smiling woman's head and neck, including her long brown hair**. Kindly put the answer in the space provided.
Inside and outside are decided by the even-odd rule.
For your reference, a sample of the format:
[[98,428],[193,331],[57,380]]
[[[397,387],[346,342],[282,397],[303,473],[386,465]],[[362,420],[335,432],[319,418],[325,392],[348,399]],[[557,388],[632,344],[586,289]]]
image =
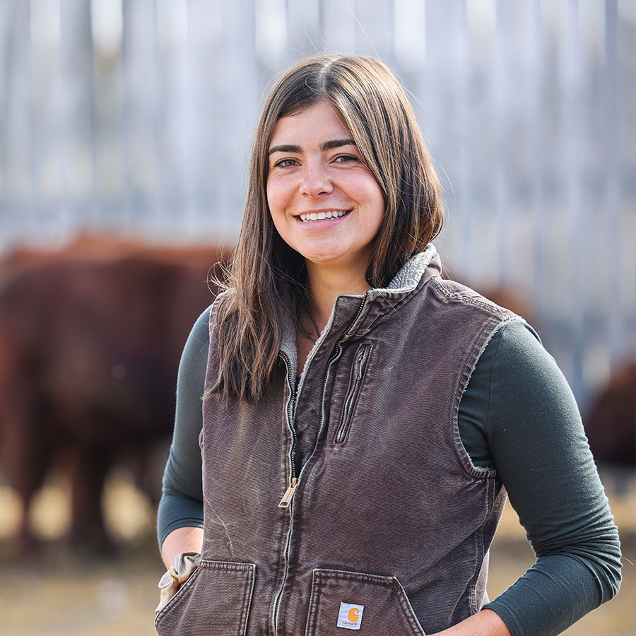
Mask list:
[[[261,396],[283,318],[297,326],[302,362],[338,295],[387,285],[443,221],[415,114],[376,59],[303,59],[273,86],[254,139],[228,302],[218,319],[222,363],[211,392],[224,399]],[[307,214],[321,212],[325,220],[307,223]],[[334,212],[348,214],[334,222]],[[313,276],[320,281],[312,285]]]

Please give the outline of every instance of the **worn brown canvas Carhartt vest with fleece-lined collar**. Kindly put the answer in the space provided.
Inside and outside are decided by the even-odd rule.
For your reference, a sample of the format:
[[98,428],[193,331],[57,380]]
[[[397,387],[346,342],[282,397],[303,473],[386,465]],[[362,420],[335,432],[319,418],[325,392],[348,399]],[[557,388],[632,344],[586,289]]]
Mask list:
[[[457,411],[510,319],[442,280],[429,247],[389,288],[338,297],[298,394],[288,329],[264,399],[205,401],[201,565],[159,634],[421,636],[478,611],[505,491],[471,463]],[[313,449],[296,475],[299,433]]]

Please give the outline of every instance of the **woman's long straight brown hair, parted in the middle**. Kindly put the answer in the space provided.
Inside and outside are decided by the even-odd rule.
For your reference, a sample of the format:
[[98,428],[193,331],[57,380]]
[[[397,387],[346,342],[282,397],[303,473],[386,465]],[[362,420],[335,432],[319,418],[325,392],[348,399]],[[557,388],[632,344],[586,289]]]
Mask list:
[[254,134],[245,214],[217,313],[219,372],[206,397],[258,399],[281,346],[284,314],[295,324],[307,308],[305,259],[274,228],[266,196],[274,126],[321,100],[351,130],[384,194],[384,218],[367,282],[384,287],[440,233],[440,184],[404,89],[381,61],[360,55],[306,57],[274,83]]

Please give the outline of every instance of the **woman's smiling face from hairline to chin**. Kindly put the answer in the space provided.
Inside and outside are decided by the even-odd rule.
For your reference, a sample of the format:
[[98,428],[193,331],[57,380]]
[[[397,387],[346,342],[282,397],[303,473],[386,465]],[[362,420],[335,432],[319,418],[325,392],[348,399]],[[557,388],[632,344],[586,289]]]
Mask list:
[[273,223],[290,247],[317,266],[364,273],[384,197],[336,107],[317,102],[278,119],[266,188]]

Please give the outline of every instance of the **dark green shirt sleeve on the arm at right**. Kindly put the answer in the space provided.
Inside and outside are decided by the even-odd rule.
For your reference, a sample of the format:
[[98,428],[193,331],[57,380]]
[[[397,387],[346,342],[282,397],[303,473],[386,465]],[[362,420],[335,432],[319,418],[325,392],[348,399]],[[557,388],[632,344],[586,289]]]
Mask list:
[[500,331],[483,430],[537,560],[486,607],[513,636],[556,635],[618,591],[618,529],[555,360],[522,322]]

